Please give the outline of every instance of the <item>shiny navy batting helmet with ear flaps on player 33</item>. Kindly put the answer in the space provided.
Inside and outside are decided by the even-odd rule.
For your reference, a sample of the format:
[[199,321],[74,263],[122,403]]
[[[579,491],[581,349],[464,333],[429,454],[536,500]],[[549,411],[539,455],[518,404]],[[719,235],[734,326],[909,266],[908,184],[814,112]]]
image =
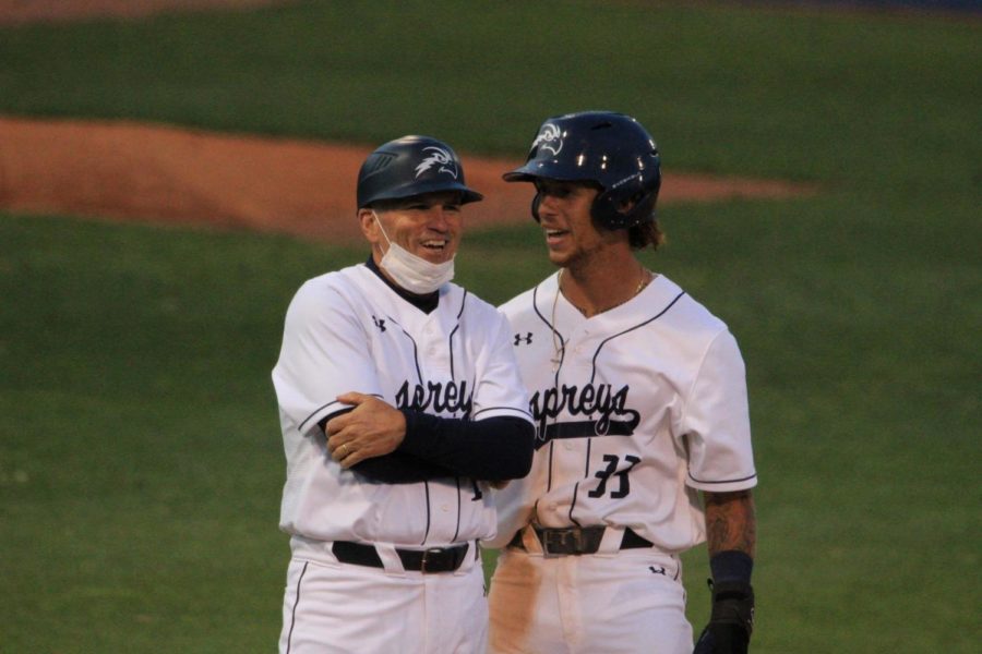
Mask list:
[[[525,166],[504,175],[506,182],[547,178],[595,182],[600,193],[590,214],[607,229],[626,229],[654,219],[661,187],[658,146],[635,119],[612,111],[582,111],[547,119],[539,128]],[[539,194],[532,216],[539,219]],[[634,203],[626,213],[624,203]]]

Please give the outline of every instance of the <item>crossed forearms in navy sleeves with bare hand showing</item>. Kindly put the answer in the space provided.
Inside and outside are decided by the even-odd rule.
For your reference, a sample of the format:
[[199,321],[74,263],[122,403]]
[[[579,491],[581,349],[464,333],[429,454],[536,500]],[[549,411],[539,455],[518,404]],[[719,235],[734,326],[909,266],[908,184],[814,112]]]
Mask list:
[[499,481],[523,477],[531,468],[535,429],[524,419],[469,421],[398,410],[361,393],[338,399],[354,409],[326,422],[327,448],[343,468],[378,481]]

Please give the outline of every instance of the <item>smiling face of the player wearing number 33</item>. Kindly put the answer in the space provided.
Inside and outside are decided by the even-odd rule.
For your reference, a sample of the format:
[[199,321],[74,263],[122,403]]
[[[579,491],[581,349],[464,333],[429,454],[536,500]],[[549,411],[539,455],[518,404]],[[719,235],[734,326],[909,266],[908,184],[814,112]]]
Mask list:
[[623,240],[623,234],[598,229],[590,207],[600,193],[596,185],[539,178],[539,225],[546,234],[549,259],[556,266],[585,265],[594,255]]

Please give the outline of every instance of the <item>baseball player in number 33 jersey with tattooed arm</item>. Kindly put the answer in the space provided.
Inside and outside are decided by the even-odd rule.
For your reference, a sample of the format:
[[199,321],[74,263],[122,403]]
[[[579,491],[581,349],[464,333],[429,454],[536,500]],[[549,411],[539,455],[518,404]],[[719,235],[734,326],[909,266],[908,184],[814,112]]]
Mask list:
[[551,118],[504,179],[535,185],[559,270],[502,306],[536,455],[496,498],[491,651],[693,652],[679,555],[708,540],[696,652],[746,652],[757,477],[744,365],[727,326],[634,254],[663,241],[654,141],[621,113]]

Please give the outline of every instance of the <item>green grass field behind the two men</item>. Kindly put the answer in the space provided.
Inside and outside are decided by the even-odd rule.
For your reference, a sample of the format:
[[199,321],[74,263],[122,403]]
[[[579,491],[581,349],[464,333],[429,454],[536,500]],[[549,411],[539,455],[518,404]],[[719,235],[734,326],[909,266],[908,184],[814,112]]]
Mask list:
[[[646,255],[747,362],[754,652],[969,653],[978,35],[640,1],[306,2],[2,28],[0,112],[422,132],[514,156],[544,117],[600,107],[638,116],[669,171],[817,182],[795,201],[666,206],[669,246]],[[530,222],[479,227],[457,276],[478,294],[550,271]],[[270,370],[296,288],[364,254],[0,215],[0,653],[275,650],[288,547]],[[705,550],[685,562],[698,629]]]

